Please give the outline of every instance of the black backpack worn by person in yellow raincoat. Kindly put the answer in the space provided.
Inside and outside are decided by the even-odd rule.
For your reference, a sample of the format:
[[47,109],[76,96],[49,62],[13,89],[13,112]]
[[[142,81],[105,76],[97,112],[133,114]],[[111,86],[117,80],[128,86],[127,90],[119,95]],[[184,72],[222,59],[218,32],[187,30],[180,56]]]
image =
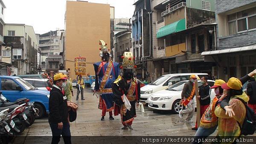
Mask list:
[[246,115],[243,124],[240,125],[240,123],[237,121],[241,130],[240,135],[253,135],[256,130],[256,114],[252,108],[248,107],[244,100],[241,98],[237,99],[243,102],[246,109]]

